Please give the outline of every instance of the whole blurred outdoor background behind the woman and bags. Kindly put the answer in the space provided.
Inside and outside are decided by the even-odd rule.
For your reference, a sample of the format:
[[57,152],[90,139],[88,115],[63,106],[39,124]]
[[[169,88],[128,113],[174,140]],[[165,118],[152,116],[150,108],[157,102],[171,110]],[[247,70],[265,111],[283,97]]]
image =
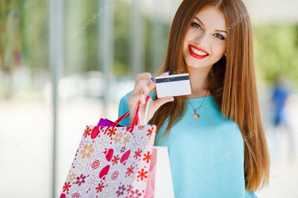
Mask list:
[[[86,125],[162,64],[181,0],[0,0],[0,198],[59,197]],[[258,197],[298,197],[298,2],[245,0],[271,153]]]

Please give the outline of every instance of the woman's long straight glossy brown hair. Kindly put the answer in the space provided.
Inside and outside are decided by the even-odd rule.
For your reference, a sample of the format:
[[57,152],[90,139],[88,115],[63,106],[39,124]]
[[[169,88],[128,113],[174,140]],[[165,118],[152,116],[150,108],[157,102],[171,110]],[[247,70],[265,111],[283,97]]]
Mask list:
[[[167,55],[156,72],[189,73],[182,56],[185,34],[200,10],[215,7],[228,24],[226,56],[216,62],[211,71],[209,90],[216,109],[223,117],[238,124],[244,142],[244,176],[247,191],[256,191],[269,183],[270,156],[260,115],[254,72],[252,27],[248,10],[241,0],[184,0],[179,6],[170,29]],[[156,88],[152,90],[156,93]],[[156,96],[157,97],[157,96]],[[173,102],[163,104],[149,121],[159,129],[168,120],[166,131],[182,119],[187,96],[175,96]],[[254,135],[250,135],[254,132]],[[249,138],[247,138],[249,137]],[[159,143],[160,143],[159,141]],[[156,143],[156,140],[155,140]]]

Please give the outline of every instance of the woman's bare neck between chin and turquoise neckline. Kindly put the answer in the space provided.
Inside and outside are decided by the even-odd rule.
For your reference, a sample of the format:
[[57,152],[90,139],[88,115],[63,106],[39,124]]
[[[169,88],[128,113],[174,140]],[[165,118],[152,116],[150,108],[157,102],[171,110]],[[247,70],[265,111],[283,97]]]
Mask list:
[[190,75],[190,86],[192,88],[192,93],[189,95],[190,98],[204,97],[206,93],[207,96],[211,94],[208,90],[208,84],[211,78],[210,70],[212,66],[203,68],[187,66]]

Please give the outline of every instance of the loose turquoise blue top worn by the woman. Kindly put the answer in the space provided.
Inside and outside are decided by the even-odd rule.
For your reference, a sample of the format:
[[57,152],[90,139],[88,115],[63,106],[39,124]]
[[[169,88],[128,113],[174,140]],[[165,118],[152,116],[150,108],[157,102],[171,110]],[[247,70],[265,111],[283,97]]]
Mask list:
[[[128,109],[128,96],[119,103],[118,118]],[[155,99],[155,94],[150,92]],[[198,109],[204,97],[192,98],[190,102]],[[206,96],[197,111],[200,118],[193,117],[194,109],[187,101],[187,111],[170,129],[159,146],[167,146],[173,179],[175,197],[226,197],[253,198],[254,192],[247,192],[244,183],[243,137],[238,125],[215,109],[212,96]],[[125,118],[123,126],[130,118]],[[167,120],[168,121],[168,120]],[[164,133],[165,122],[157,141]]]

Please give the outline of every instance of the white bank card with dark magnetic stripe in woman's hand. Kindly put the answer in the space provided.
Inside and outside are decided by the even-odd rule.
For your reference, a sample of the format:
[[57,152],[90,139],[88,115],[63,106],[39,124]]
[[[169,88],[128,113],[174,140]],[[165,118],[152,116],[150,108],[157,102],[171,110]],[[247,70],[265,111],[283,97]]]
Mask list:
[[191,94],[188,73],[157,76],[155,77],[155,81],[156,93],[158,98]]

